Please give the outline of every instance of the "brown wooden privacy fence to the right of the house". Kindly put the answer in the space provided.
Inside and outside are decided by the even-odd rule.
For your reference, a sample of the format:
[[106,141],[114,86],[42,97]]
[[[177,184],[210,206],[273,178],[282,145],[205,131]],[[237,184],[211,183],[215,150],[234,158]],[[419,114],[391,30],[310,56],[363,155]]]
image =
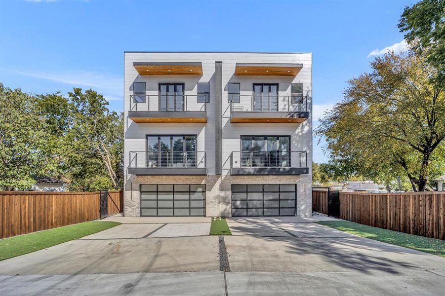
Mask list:
[[[340,192],[339,198],[340,219],[445,240],[445,192]],[[313,190],[312,202],[324,213],[327,191]]]

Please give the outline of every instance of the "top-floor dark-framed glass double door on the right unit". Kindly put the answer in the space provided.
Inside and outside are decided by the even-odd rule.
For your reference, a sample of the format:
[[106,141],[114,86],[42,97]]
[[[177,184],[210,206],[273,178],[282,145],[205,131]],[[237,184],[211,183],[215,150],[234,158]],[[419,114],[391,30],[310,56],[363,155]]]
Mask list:
[[278,111],[278,84],[253,84],[253,111]]

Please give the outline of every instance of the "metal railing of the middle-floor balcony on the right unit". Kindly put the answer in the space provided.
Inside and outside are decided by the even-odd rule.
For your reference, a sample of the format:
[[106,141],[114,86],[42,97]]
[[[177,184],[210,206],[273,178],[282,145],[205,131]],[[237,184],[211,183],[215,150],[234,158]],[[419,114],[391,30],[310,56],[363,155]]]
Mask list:
[[307,168],[307,151],[233,151],[230,154],[231,168]]

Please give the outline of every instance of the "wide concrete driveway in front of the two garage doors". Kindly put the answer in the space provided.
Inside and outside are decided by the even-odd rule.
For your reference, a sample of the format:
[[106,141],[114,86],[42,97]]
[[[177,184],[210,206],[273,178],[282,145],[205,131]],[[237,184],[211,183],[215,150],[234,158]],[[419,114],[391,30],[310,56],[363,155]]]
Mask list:
[[0,295],[443,295],[444,258],[327,219],[229,219],[217,237],[210,218],[108,218],[123,224],[0,261]]

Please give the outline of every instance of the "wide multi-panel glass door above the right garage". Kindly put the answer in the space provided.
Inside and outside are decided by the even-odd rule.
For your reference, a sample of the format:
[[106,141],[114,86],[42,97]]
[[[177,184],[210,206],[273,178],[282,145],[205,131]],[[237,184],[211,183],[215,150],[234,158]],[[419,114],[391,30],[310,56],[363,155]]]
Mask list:
[[289,167],[289,136],[242,136],[243,167]]

